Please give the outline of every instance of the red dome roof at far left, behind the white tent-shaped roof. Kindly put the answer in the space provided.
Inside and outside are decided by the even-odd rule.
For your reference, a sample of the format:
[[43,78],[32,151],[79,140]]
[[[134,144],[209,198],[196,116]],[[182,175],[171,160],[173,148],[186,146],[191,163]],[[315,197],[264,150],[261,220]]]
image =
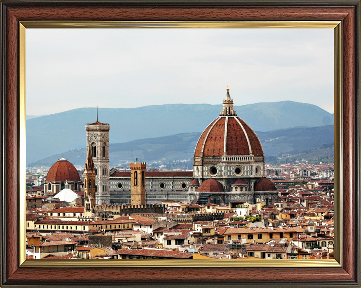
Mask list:
[[51,168],[46,176],[47,182],[80,181],[79,173],[68,160],[61,158]]

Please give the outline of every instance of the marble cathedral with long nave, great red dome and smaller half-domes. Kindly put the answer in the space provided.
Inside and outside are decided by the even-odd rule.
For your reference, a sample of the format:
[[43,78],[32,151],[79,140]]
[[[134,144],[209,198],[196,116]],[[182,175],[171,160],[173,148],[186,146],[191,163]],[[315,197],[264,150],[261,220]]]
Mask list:
[[[107,147],[108,142],[104,141],[104,146]],[[110,171],[110,204],[131,203],[130,175],[131,172],[115,168]],[[235,200],[256,203],[259,199],[266,204],[279,201],[276,186],[265,176],[261,142],[252,128],[237,116],[227,88],[223,110],[196,144],[193,171],[145,171],[146,203],[174,200],[228,205]]]

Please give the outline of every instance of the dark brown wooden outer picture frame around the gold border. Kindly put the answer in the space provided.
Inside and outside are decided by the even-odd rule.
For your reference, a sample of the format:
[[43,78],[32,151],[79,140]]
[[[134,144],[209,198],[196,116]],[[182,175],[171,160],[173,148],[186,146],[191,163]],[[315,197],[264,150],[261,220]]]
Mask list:
[[[360,287],[359,0],[82,1],[1,3],[1,284],[3,286],[334,286]],[[341,21],[342,267],[19,266],[19,21]]]

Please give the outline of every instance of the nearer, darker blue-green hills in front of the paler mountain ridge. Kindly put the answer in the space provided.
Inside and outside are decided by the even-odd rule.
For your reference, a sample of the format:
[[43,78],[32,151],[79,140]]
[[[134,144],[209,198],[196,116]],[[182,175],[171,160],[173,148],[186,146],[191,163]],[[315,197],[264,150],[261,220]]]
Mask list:
[[[266,161],[276,163],[278,158],[283,160],[294,158],[302,154],[299,159],[307,158],[309,161],[323,160],[328,157],[332,162],[334,152],[334,126],[298,127],[281,129],[270,132],[256,132],[261,140]],[[201,133],[182,133],[172,136],[134,140],[127,143],[110,144],[110,166],[133,160],[139,161],[173,161],[193,158],[193,152]],[[326,149],[328,148],[328,149]],[[326,154],[325,154],[326,153]],[[283,156],[284,155],[284,156]],[[296,156],[295,156],[296,155]],[[43,160],[33,162],[28,167],[51,166],[58,159],[64,157],[74,165],[84,165],[86,149],[72,149],[59,153]],[[323,160],[324,161],[324,160]]]

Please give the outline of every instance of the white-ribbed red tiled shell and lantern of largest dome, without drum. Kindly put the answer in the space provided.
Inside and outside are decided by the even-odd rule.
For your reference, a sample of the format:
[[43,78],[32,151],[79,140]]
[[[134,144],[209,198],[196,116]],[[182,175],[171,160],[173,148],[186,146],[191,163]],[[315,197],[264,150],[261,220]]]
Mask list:
[[203,131],[199,138],[195,157],[220,157],[224,155],[264,156],[256,133],[233,110],[233,100],[227,89],[223,110]]

